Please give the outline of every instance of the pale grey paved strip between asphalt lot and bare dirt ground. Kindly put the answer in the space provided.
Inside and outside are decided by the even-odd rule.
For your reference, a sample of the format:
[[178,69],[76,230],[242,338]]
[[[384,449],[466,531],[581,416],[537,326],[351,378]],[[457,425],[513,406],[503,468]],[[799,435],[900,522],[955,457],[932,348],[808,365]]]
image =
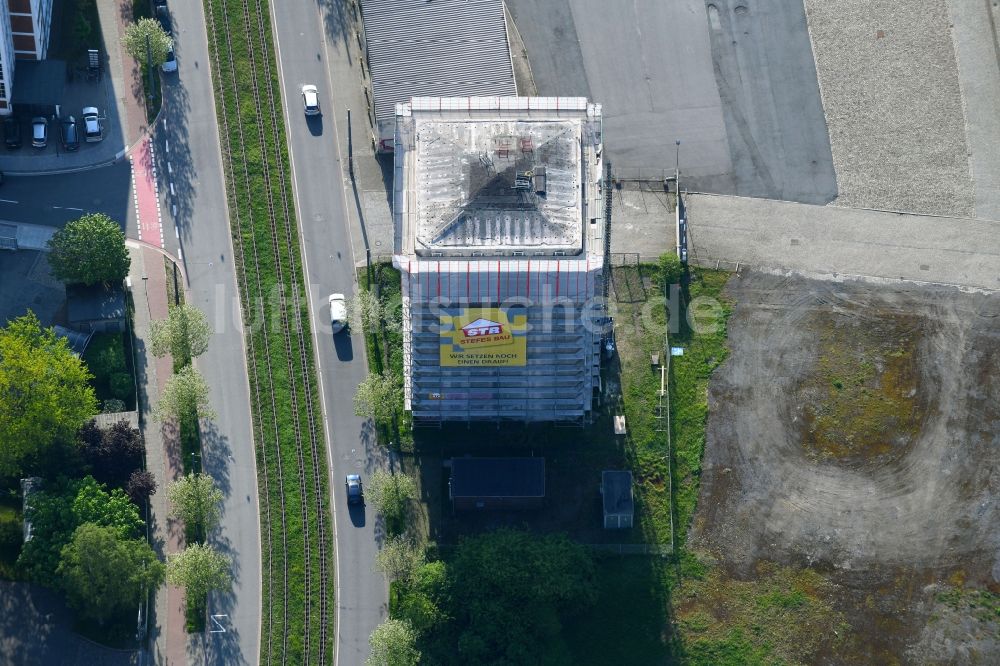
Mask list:
[[690,195],[690,256],[822,276],[1000,289],[1000,222]]

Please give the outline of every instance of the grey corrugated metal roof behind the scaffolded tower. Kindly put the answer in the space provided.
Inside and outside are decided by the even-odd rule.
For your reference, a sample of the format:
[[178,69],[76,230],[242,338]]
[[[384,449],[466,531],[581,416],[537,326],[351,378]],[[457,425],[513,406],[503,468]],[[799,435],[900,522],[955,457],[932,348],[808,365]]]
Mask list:
[[516,95],[502,0],[364,0],[376,121],[413,96]]

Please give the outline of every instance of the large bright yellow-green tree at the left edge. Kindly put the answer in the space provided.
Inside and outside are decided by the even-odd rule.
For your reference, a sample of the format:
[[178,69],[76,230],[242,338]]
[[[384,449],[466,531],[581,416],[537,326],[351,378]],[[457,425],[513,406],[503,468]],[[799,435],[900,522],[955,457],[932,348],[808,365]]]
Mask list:
[[53,444],[72,444],[97,413],[90,373],[64,338],[29,312],[0,328],[0,476],[17,476]]

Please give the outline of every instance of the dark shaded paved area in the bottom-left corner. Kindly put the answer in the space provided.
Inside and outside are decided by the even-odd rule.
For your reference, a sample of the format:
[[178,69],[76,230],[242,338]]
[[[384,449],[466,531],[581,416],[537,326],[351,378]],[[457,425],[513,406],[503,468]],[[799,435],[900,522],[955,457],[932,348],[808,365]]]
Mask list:
[[113,650],[70,630],[72,615],[43,587],[0,581],[0,663],[7,666],[125,666],[138,664],[135,650]]

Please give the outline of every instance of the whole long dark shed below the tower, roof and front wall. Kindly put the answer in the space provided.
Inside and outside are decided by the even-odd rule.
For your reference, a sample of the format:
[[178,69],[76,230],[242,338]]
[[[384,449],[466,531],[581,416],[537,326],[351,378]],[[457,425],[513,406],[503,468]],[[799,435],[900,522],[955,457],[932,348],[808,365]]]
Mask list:
[[537,509],[545,500],[545,458],[452,458],[455,511]]

